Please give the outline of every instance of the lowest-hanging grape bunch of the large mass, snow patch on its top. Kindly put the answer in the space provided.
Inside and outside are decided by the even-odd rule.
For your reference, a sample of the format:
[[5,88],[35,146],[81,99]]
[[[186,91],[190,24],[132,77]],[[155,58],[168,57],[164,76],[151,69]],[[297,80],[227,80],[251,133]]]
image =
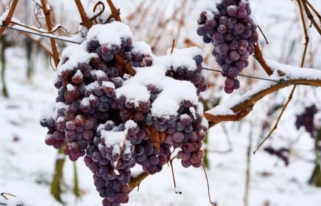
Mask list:
[[[138,126],[133,121],[115,126],[112,121],[97,127],[97,136],[87,148],[84,162],[93,174],[94,184],[103,205],[119,205],[128,202],[130,169],[134,166],[134,142]],[[124,131],[126,130],[126,133]],[[109,141],[117,133],[125,137],[122,147]],[[120,156],[119,156],[120,155]]]

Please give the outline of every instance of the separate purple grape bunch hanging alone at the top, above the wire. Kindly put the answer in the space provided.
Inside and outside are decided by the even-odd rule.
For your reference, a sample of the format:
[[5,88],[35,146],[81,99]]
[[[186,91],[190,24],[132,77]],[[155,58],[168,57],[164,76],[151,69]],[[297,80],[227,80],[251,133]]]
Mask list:
[[248,66],[247,59],[258,41],[250,14],[248,0],[221,0],[215,11],[202,12],[198,20],[196,32],[205,43],[213,44],[212,55],[226,77],[224,91],[228,94],[239,89],[236,77]]

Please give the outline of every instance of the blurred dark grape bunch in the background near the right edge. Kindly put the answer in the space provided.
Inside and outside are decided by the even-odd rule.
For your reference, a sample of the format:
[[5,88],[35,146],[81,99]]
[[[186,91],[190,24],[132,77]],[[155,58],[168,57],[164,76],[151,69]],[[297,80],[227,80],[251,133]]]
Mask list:
[[302,114],[297,115],[297,119],[295,121],[296,128],[299,129],[301,126],[303,126],[305,130],[311,134],[311,137],[315,137],[316,128],[314,124],[314,116],[317,114],[317,112],[318,109],[315,105],[306,107]]

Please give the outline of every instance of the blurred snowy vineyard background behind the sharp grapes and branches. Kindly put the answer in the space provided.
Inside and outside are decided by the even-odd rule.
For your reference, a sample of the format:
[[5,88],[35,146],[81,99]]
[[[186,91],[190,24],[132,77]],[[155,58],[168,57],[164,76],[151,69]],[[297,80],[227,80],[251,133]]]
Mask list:
[[[72,36],[69,33],[81,30],[74,1],[47,1],[53,24],[67,28],[56,31],[56,36]],[[26,25],[45,28],[37,2],[20,0],[14,17]],[[82,0],[86,11],[92,11],[96,2]],[[319,0],[309,2],[321,12]],[[0,0],[0,15],[9,3]],[[252,15],[269,42],[266,44],[260,35],[265,58],[299,67],[305,38],[297,2],[250,0],[250,3]],[[134,40],[147,42],[155,55],[165,55],[175,39],[177,48],[202,48],[206,64],[219,69],[211,56],[212,45],[204,44],[196,34],[200,0],[114,0],[114,4],[120,8],[123,22],[132,29]],[[310,25],[308,18],[306,23]],[[304,67],[320,69],[321,36],[310,27],[308,36]],[[59,52],[68,45],[56,43]],[[17,195],[32,205],[100,206],[102,198],[82,160],[74,164],[44,143],[46,129],[39,125],[40,110],[57,92],[50,51],[48,38],[9,29],[0,38],[0,193]],[[249,61],[242,74],[267,76],[253,57]],[[220,73],[207,71],[209,89],[200,97],[206,109],[234,99],[264,81],[239,77],[240,89],[225,94],[224,80]],[[277,130],[253,155],[273,128],[291,89],[284,88],[260,100],[242,121],[223,122],[209,130],[204,162],[211,198],[218,206],[320,205],[321,129],[313,124],[320,117],[320,88],[298,86]],[[310,109],[306,110],[307,107]],[[296,125],[297,116],[304,112],[307,129]],[[171,169],[164,167],[160,173],[143,180],[139,191],[136,188],[130,193],[127,205],[213,205],[208,200],[203,169],[183,168],[178,160],[173,163],[182,194],[175,194]]]

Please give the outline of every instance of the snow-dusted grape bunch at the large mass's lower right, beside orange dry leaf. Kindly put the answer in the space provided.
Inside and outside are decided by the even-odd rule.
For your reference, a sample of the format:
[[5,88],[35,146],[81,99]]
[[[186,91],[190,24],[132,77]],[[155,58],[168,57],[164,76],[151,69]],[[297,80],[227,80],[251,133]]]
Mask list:
[[198,107],[201,106],[182,101],[177,116],[167,119],[154,118],[156,129],[164,129],[166,125],[164,131],[167,137],[164,142],[181,149],[177,157],[182,160],[183,167],[198,168],[202,165],[204,152],[201,150],[201,141],[205,139],[205,132],[208,128],[202,123],[202,115]]

